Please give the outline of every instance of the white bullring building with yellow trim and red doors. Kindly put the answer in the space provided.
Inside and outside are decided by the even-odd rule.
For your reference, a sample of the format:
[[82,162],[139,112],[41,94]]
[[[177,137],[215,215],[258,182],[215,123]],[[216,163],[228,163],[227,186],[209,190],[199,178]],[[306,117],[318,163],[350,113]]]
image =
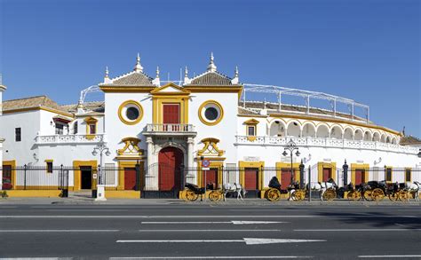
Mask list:
[[[161,82],[158,69],[155,78],[146,75],[138,56],[130,73],[110,78],[106,71],[98,88],[104,101],[67,106],[44,96],[4,101],[0,161],[10,185],[3,188],[21,185],[14,168],[23,165],[71,166],[68,186],[76,192],[96,188],[101,164],[106,189],[136,189],[143,197],[177,196],[186,182],[235,182],[258,193],[271,177],[288,181],[290,160],[300,182],[308,182],[298,174],[301,163],[313,169],[312,181],[421,180],[418,147],[401,146],[401,132],[355,115],[352,100],[338,99],[350,102],[352,114],[337,111],[338,97],[318,92],[332,101],[332,111],[310,106],[308,91],[278,89],[277,102],[249,101],[238,69],[232,78],[220,74],[213,55],[201,75],[190,78],[186,68],[182,83]],[[288,93],[306,94],[306,106],[282,104]],[[292,159],[282,155],[290,140],[300,153]],[[109,155],[93,155],[99,145],[107,146]],[[203,161],[210,162],[206,177]],[[339,170],[345,161],[351,169],[346,180]]]

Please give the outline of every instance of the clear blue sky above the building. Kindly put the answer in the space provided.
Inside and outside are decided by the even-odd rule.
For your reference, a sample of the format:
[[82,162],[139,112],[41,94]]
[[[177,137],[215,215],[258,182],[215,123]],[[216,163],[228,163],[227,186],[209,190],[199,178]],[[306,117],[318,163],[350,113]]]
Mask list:
[[[374,122],[421,137],[420,4],[413,0],[0,0],[5,99],[79,91],[129,72],[218,71],[243,83],[353,98]],[[100,98],[92,96],[91,98]]]

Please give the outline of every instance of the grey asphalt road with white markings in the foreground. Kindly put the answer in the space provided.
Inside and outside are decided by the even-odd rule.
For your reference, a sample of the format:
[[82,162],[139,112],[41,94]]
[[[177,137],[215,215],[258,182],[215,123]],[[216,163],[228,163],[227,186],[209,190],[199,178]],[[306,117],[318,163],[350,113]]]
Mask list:
[[0,257],[421,259],[413,205],[0,205]]

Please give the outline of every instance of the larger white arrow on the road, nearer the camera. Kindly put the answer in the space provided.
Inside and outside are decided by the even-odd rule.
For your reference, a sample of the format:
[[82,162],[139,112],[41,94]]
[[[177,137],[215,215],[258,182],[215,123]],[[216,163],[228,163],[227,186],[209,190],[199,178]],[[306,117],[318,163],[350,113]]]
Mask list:
[[246,243],[246,245],[264,245],[281,243],[325,242],[326,240],[290,240],[243,238],[242,240],[116,240],[117,243]]

